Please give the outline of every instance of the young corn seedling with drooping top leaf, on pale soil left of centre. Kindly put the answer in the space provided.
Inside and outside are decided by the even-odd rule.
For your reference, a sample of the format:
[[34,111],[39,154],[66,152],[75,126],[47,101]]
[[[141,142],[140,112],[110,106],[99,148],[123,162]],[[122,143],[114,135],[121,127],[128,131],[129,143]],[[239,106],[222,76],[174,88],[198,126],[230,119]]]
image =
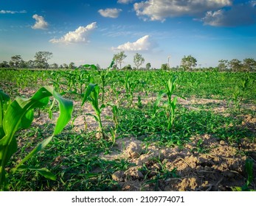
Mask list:
[[103,109],[105,108],[105,104],[101,104],[99,106],[99,93],[100,93],[100,87],[97,84],[89,84],[86,93],[83,96],[83,102],[82,106],[85,102],[89,102],[91,106],[94,109],[94,112],[96,115],[92,115],[91,113],[87,113],[86,115],[93,116],[94,119],[98,122],[99,124],[99,130],[100,130],[100,135],[102,138],[105,138],[104,130],[103,130],[103,124],[100,118],[100,114],[102,113]]

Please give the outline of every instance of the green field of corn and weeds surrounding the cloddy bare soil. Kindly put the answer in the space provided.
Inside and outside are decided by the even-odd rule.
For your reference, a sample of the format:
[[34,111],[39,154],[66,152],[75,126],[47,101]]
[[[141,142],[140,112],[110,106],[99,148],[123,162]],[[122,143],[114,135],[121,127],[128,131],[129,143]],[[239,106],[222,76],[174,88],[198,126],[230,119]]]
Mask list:
[[[194,146],[189,152],[207,154],[214,146],[205,146],[204,135],[234,146],[249,159],[243,172],[246,181],[233,186],[255,189],[252,158],[241,147],[243,141],[255,143],[255,123],[245,121],[256,115],[255,73],[123,71],[112,66],[107,70],[95,65],[72,70],[1,70],[1,190],[119,191],[112,174],[127,171],[133,163],[121,157],[103,158],[117,152],[117,141],[141,141],[143,154],[152,145],[184,149],[190,144]],[[72,117],[72,103],[66,99],[74,102]],[[18,107],[23,112],[15,115]],[[32,109],[38,107],[42,113],[32,116]],[[58,121],[49,120],[45,113],[59,115]],[[7,121],[10,118],[17,118],[11,121],[15,125]],[[157,190],[162,181],[179,177],[176,168],[170,169],[170,163],[161,158],[151,160],[158,169],[147,164],[139,168],[142,190],[147,185]]]

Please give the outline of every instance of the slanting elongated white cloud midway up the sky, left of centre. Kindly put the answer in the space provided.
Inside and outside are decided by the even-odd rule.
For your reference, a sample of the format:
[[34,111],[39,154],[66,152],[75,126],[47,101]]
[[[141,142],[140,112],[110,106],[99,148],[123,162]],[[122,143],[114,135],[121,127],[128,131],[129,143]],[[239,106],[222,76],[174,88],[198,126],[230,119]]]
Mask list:
[[97,28],[97,23],[93,22],[87,26],[79,26],[74,32],[68,32],[59,39],[51,39],[51,43],[89,43],[89,34]]

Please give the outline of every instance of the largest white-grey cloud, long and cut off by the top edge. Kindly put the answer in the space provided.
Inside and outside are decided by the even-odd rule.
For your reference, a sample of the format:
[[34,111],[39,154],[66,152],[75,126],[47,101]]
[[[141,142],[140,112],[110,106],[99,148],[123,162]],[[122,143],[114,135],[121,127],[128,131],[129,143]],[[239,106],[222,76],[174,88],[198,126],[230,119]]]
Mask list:
[[167,17],[200,15],[232,5],[232,0],[148,0],[134,4],[136,15],[144,20],[165,21]]

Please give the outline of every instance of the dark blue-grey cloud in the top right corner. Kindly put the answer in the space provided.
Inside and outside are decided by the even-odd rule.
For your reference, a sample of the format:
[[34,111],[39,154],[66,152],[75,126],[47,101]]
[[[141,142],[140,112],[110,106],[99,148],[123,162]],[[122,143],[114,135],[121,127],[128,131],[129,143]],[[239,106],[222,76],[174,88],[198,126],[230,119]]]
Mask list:
[[237,4],[229,10],[208,11],[201,21],[210,26],[240,26],[256,22],[256,7],[254,1]]

